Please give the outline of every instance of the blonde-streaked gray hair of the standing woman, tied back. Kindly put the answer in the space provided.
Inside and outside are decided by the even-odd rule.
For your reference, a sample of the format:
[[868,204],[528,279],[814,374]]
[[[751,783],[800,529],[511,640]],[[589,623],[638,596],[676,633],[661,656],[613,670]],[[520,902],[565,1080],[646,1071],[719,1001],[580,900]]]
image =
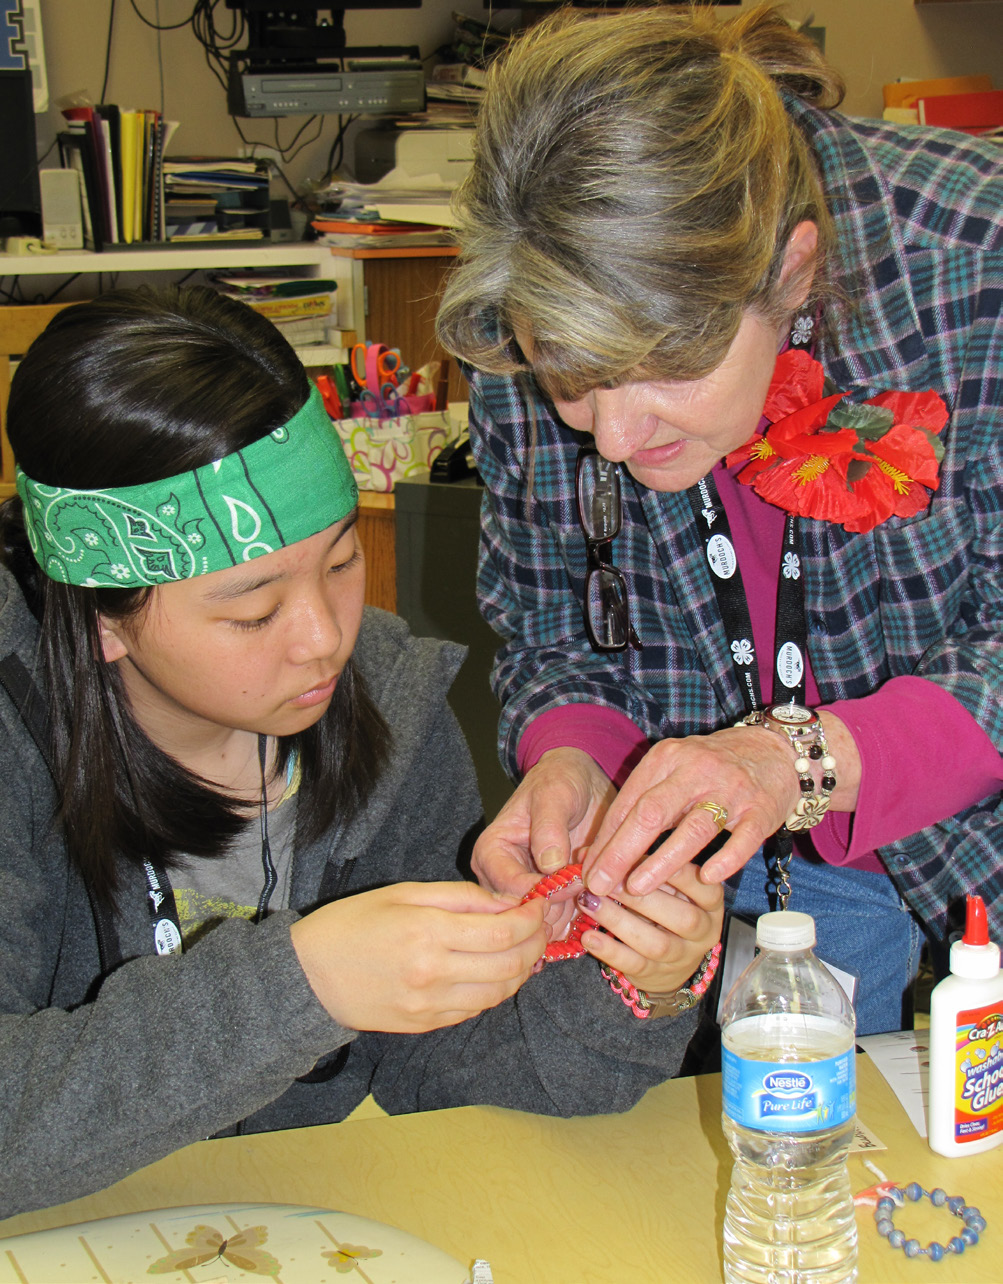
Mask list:
[[[637,377],[697,379],[742,313],[781,321],[799,222],[832,223],[782,94],[836,107],[842,81],[772,5],[561,10],[492,67],[442,344],[575,399]],[[795,282],[796,284],[796,282]]]

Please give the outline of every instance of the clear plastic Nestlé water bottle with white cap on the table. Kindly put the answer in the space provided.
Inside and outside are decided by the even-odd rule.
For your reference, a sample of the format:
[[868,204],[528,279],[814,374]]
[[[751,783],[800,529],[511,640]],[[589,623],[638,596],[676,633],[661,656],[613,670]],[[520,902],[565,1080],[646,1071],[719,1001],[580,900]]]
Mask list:
[[763,914],[759,953],[722,1009],[723,1122],[735,1156],[724,1279],[736,1284],[857,1279],[846,1172],[854,1014],[814,944],[810,914]]

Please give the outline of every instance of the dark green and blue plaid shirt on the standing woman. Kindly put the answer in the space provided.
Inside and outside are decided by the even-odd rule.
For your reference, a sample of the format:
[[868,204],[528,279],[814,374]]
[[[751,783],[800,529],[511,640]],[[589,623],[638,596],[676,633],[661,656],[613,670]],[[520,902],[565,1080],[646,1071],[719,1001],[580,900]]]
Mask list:
[[[849,304],[827,311],[817,356],[851,399],[934,388],[950,417],[940,488],[925,511],[868,534],[804,520],[808,648],[823,700],[917,674],[959,700],[1003,749],[1003,168],[997,144],[853,121],[790,103],[837,226]],[[627,575],[643,651],[598,656],[582,623],[586,555],[574,465],[583,438],[532,379],[467,371],[485,480],[478,589],[502,637],[493,686],[501,755],[515,770],[527,724],[568,702],[620,710],[651,740],[741,715],[727,638],[685,494],[623,473]],[[536,433],[534,466],[529,467]],[[528,490],[532,476],[532,490]],[[908,728],[908,737],[936,728]],[[945,752],[950,746],[945,745]],[[880,856],[941,939],[966,891],[1003,936],[1003,801],[968,808]]]

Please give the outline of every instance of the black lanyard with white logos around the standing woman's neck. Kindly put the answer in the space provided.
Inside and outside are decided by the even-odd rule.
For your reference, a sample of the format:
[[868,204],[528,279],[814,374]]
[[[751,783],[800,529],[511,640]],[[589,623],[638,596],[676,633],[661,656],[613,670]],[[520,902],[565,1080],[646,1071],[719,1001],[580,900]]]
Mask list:
[[[738,673],[745,710],[753,713],[754,709],[763,707],[763,696],[759,690],[749,600],[738,569],[728,516],[710,473],[690,488],[688,496],[697,529],[704,539],[704,552],[713,577],[714,594],[728,647]],[[773,655],[773,701],[777,704],[789,700],[804,704],[807,634],[800,533],[798,519],[794,514],[787,514],[777,586]]]

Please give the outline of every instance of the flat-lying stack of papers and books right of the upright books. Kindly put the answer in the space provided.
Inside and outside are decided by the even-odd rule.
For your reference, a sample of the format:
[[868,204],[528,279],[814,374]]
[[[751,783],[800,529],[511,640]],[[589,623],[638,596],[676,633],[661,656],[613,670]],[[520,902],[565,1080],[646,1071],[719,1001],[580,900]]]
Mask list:
[[262,240],[270,234],[265,160],[170,157],[163,189],[170,241]]

